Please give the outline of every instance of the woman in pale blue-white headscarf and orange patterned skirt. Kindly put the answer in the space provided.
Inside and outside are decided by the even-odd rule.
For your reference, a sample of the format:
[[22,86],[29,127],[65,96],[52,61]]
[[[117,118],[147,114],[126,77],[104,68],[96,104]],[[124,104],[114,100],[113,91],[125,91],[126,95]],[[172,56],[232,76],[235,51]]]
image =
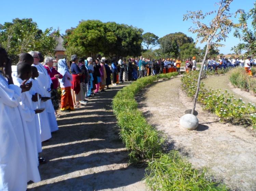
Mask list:
[[71,95],[71,81],[72,76],[69,73],[69,69],[66,63],[66,59],[58,60],[58,73],[60,73],[63,78],[59,79],[61,87],[61,111],[74,110],[72,95]]

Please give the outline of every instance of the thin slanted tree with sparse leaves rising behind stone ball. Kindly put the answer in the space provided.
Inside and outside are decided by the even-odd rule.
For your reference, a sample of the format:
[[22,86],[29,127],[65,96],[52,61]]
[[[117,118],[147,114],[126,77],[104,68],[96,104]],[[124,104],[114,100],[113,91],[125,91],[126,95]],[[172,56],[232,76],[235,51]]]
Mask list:
[[[197,42],[200,43],[207,43],[206,50],[203,58],[203,63],[205,63],[207,54],[210,48],[217,48],[223,46],[220,44],[221,41],[225,41],[228,37],[227,35],[230,33],[233,27],[236,27],[232,22],[232,17],[236,16],[238,13],[243,13],[243,10],[238,10],[235,13],[230,13],[230,3],[233,0],[221,0],[220,2],[216,3],[218,5],[218,10],[211,11],[207,13],[203,13],[200,11],[188,11],[187,14],[184,15],[183,20],[191,19],[194,27],[189,28],[189,32],[197,34]],[[203,20],[208,20],[208,16],[212,17],[215,14],[215,17],[210,21],[210,23],[206,24],[203,23]],[[194,114],[194,110],[196,108],[196,101],[200,89],[200,81],[201,75],[203,71],[203,65],[201,65],[199,77],[198,77],[198,84],[197,84],[197,91],[194,96],[193,101],[193,108],[191,114]]]

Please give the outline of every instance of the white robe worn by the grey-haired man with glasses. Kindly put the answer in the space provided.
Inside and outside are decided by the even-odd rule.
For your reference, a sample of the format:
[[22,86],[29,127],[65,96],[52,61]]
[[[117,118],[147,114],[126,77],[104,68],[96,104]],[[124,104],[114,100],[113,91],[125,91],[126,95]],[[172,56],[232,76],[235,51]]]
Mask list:
[[[41,90],[43,91],[43,97],[51,97],[50,92],[48,91],[51,88],[51,83],[52,80],[50,76],[47,73],[47,70],[43,67],[41,63],[38,63],[38,65],[32,64],[32,66],[35,66],[38,70],[39,76],[37,79]],[[48,119],[49,119],[49,124],[51,128],[51,132],[57,131],[58,130],[58,125],[56,121],[56,117],[54,114],[54,108],[52,105],[52,100],[49,99],[48,101],[45,101],[45,109],[48,113]]]

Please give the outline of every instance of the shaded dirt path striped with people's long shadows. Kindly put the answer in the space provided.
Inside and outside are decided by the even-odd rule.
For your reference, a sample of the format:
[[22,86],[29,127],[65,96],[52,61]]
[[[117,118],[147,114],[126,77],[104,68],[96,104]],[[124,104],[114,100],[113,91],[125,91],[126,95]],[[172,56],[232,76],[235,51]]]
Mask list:
[[[128,84],[127,82],[125,84]],[[90,99],[86,107],[61,113],[59,130],[43,143],[41,182],[27,191],[145,191],[144,169],[129,166],[111,101],[123,85]]]

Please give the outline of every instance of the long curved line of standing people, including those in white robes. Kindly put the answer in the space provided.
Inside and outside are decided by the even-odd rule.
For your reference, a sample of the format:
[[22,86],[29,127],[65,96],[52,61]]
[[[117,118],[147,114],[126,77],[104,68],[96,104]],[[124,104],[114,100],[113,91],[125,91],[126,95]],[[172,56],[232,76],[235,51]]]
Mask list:
[[[250,73],[254,63],[250,57],[245,61],[220,57],[218,62],[208,58],[204,69],[241,66]],[[12,65],[5,49],[0,48],[0,190],[25,191],[28,181],[40,181],[38,165],[47,162],[39,156],[42,142],[58,130],[58,90],[60,111],[70,112],[86,105],[90,97],[109,90],[111,84],[180,73],[180,67],[179,58],[117,60],[99,54],[96,59],[71,55],[70,59],[59,59],[54,66],[52,57],[44,58],[37,51],[21,53],[19,62]],[[187,59],[185,67],[187,72],[196,70],[196,57]]]

